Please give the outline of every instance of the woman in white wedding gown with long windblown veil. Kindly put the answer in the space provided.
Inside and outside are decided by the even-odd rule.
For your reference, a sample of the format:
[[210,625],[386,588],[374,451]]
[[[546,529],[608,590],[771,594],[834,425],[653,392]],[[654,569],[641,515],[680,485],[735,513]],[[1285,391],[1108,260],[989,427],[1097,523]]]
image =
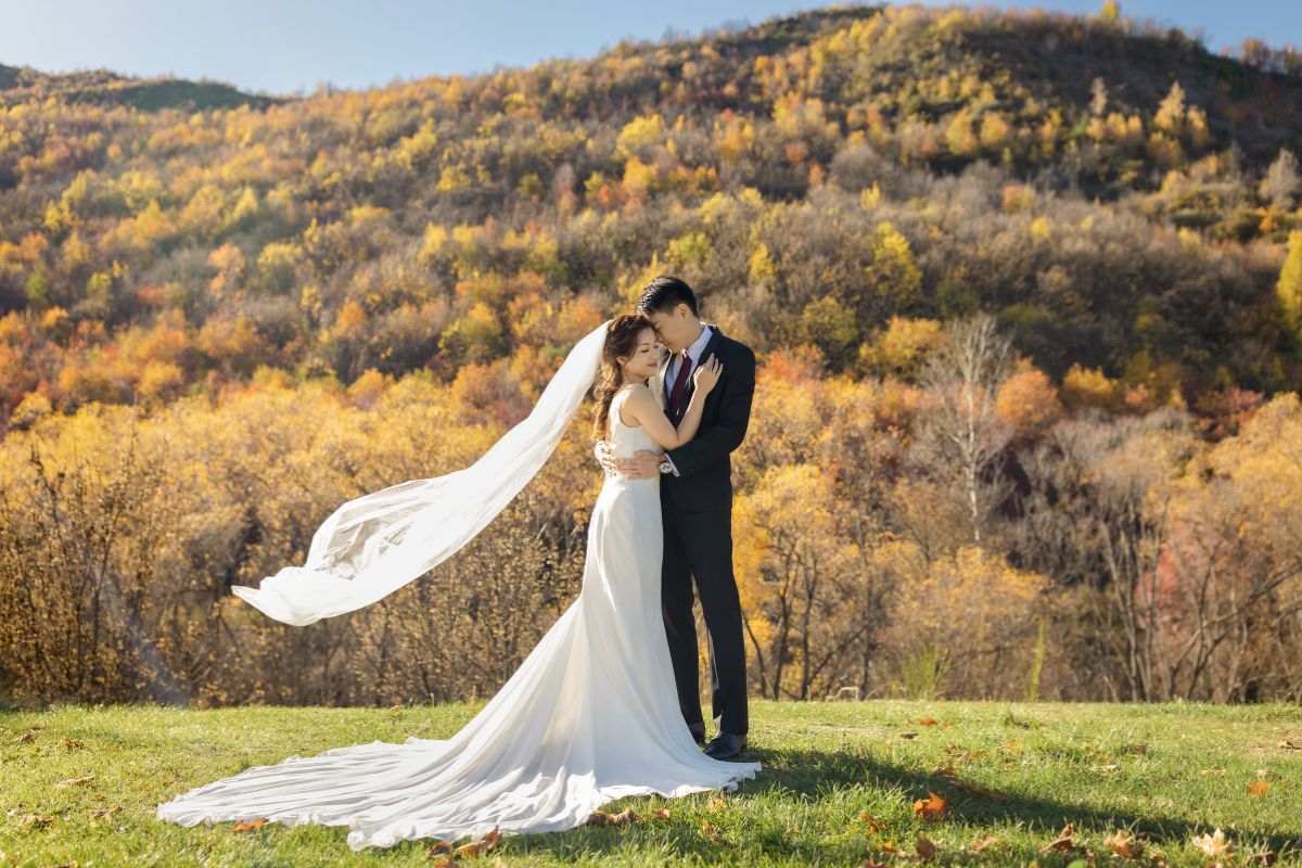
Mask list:
[[[647,385],[660,355],[641,314],[603,323],[570,351],[530,416],[479,462],[345,504],[312,537],[305,567],[285,567],[260,588],[236,593],[280,621],[310,623],[418,578],[536,472],[598,367],[594,435],[616,457],[687,442],[721,366],[711,359],[693,372],[695,389],[676,429],[661,390]],[[495,829],[570,829],[613,799],[730,790],[753,778],[758,763],[702,753],[678,709],[660,614],[659,484],[659,475],[607,476],[589,524],[582,591],[452,738],[294,755],[177,795],[158,807],[158,817],[185,826],[256,819],[346,825],[349,847],[362,850]]]

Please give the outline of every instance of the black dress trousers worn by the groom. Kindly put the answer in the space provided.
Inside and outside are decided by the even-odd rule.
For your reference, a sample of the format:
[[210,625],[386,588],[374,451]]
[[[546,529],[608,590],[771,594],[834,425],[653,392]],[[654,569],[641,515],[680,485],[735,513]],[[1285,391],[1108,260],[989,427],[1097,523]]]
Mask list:
[[660,604],[669,639],[673,679],[684,720],[700,724],[700,674],[697,621],[691,613],[695,576],[710,640],[710,679],[715,724],[720,731],[745,735],[746,649],[741,599],[732,567],[732,509],[685,513],[661,497],[664,560]]

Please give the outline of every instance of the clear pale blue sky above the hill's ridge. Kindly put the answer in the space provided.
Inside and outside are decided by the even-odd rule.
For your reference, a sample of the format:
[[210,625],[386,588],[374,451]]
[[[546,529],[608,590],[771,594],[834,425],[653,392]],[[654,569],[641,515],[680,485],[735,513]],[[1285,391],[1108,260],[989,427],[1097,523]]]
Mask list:
[[[488,72],[548,57],[586,57],[620,42],[697,35],[729,21],[759,23],[822,3],[531,3],[471,0],[0,0],[0,64],[46,72],[108,68],[230,82],[292,94],[328,81],[371,87],[396,79]],[[948,5],[948,4],[947,4]],[[1008,0],[996,8],[1096,12],[1101,0]],[[1121,0],[1126,17],[1202,31],[1213,51],[1249,36],[1302,47],[1298,0]]]

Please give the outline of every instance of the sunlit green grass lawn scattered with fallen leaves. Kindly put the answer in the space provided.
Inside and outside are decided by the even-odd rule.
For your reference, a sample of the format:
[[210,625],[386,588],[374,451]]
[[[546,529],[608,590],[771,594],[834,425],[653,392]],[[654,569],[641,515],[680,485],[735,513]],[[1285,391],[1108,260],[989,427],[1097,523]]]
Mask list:
[[[0,867],[428,865],[434,841],[353,852],[342,826],[186,829],[154,809],[293,753],[447,737],[478,708],[0,712]],[[631,807],[633,822],[508,837],[462,864],[921,864],[922,835],[932,864],[1210,865],[1194,839],[1217,826],[1234,848],[1225,864],[1268,864],[1251,860],[1267,851],[1302,864],[1293,705],[755,703],[751,716],[747,759],[764,770],[737,793],[624,799],[607,809]],[[949,800],[945,816],[915,816],[928,790]],[[1075,848],[1044,850],[1066,824]],[[1117,830],[1138,858],[1105,842]]]

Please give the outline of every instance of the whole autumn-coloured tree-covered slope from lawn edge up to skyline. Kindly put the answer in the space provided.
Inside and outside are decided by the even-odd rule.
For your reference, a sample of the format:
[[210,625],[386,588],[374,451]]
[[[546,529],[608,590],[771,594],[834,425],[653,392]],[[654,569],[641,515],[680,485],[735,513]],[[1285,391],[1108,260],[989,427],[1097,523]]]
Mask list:
[[0,66],[0,691],[492,688],[577,588],[586,424],[491,575],[310,630],[229,586],[478,455],[674,273],[760,360],[756,694],[1297,699],[1299,148],[1295,49],[1112,3],[302,98]]

